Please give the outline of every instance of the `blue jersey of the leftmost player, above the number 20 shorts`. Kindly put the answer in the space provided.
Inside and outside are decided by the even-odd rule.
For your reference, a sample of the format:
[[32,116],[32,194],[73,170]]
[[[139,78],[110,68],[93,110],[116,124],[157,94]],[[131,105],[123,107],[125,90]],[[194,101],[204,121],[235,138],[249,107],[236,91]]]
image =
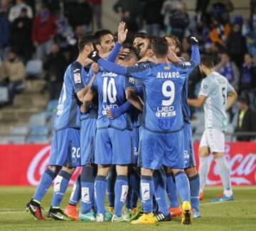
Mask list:
[[80,101],[76,93],[84,88],[82,64],[75,61],[65,71],[63,87],[60,92],[54,129],[80,128]]

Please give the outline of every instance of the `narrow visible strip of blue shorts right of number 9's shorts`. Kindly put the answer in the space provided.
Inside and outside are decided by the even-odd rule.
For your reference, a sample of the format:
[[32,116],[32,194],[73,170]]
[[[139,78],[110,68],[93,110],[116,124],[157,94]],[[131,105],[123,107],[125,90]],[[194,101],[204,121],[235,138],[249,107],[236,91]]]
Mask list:
[[195,167],[195,154],[193,152],[193,142],[192,142],[192,128],[190,123],[185,123],[183,128],[184,133],[184,168]]

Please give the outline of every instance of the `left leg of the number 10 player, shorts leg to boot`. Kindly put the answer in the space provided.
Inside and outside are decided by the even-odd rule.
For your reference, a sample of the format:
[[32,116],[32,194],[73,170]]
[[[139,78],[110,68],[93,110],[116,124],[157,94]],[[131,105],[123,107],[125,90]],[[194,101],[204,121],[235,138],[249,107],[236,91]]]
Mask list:
[[112,164],[112,146],[109,128],[97,130],[95,139],[95,164],[98,165],[97,176],[95,178],[96,221],[104,222],[112,218],[112,215],[105,210],[107,174]]

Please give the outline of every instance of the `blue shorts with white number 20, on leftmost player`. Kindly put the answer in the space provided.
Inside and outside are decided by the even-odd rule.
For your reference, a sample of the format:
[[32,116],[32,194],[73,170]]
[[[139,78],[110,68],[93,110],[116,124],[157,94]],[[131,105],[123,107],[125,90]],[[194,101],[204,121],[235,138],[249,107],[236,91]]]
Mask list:
[[65,128],[54,131],[49,165],[80,166],[80,129]]

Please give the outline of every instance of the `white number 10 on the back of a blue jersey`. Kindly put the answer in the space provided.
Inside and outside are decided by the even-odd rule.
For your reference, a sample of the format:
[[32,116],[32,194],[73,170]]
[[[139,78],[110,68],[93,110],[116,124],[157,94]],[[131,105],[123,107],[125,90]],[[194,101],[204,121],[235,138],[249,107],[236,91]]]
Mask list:
[[107,99],[110,103],[115,103],[117,101],[117,89],[114,79],[105,77],[103,79],[103,102],[107,103]]

